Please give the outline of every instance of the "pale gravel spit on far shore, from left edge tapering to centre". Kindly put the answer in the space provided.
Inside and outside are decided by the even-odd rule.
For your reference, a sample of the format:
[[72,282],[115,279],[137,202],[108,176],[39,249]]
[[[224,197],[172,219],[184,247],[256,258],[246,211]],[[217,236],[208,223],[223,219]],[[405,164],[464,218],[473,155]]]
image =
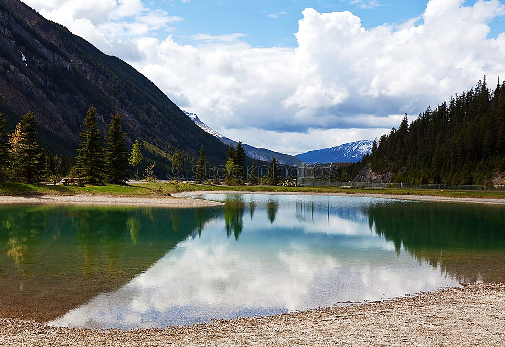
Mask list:
[[[120,206],[157,206],[157,207],[209,207],[223,203],[201,199],[188,199],[161,196],[119,196],[79,194],[70,196],[34,195],[34,196],[0,196],[0,204],[75,204],[75,205],[120,205]],[[1,345],[1,344],[0,344]]]

